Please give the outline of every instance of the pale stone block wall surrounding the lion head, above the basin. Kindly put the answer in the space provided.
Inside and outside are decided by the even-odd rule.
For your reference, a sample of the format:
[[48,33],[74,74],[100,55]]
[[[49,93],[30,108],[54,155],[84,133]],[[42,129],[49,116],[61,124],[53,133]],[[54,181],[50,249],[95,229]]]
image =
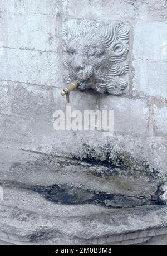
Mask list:
[[[165,0],[0,0],[0,143],[167,173],[166,15]],[[66,108],[64,18],[130,23],[129,93],[71,93],[72,109],[114,110],[112,137],[53,128],[54,110]]]

